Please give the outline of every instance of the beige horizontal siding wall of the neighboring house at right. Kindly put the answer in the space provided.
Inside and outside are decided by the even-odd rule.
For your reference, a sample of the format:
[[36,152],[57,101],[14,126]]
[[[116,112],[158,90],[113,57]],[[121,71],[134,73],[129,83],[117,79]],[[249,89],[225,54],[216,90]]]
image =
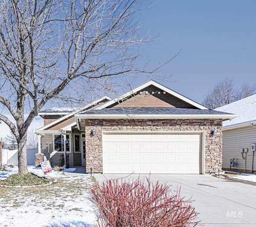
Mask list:
[[[224,130],[222,140],[222,167],[230,168],[230,159],[235,158],[236,166],[232,169],[245,169],[245,159],[242,158],[241,148],[248,148],[246,170],[251,170],[252,151],[251,144],[256,143],[256,128],[241,127]],[[245,157],[245,154],[244,154]],[[256,171],[256,152],[254,152],[254,171]]]

